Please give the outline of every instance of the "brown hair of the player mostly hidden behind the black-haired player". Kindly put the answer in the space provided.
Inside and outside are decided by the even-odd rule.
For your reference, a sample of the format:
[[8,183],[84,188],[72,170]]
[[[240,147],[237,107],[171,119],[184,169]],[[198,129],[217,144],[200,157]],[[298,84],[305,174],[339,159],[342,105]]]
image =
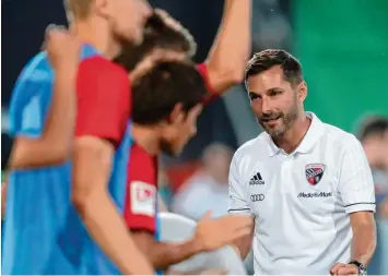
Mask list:
[[178,21],[166,11],[155,9],[144,27],[143,43],[139,46],[127,45],[115,62],[129,72],[155,48],[185,52],[191,58],[196,53],[197,45],[191,34]]

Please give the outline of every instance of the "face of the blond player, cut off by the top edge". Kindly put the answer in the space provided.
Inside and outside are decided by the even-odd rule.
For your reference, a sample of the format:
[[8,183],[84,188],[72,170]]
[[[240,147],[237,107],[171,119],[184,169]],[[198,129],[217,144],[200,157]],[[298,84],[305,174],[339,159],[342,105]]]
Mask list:
[[118,40],[134,45],[142,43],[144,25],[151,15],[146,0],[108,0],[104,12]]

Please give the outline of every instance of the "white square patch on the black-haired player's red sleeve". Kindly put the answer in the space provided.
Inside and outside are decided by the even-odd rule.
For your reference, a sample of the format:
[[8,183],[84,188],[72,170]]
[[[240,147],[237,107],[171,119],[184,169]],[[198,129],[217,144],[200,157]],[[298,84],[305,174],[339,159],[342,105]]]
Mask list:
[[154,216],[156,209],[156,188],[142,181],[130,183],[131,211],[136,215]]

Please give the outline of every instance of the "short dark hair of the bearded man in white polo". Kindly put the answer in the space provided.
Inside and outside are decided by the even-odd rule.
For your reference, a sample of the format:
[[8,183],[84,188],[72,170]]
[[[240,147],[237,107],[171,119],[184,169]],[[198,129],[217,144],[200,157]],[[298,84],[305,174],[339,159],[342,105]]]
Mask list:
[[299,61],[285,50],[268,49],[254,55],[245,70],[245,82],[249,76],[257,75],[272,67],[280,65],[284,77],[292,85],[303,81],[302,65]]

